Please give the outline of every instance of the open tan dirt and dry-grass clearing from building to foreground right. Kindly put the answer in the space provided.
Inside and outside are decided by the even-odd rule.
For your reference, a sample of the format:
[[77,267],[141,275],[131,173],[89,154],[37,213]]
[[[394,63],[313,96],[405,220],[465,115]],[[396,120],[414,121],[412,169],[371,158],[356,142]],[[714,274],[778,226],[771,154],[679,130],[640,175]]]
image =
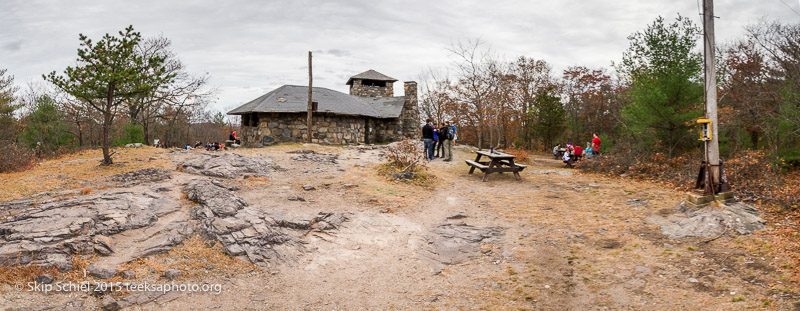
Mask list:
[[[300,148],[339,154],[339,163],[296,161],[286,153]],[[463,159],[472,155],[464,149],[453,162],[431,163],[438,178],[432,189],[378,176],[380,150],[236,152],[268,155],[284,169],[240,182],[237,193],[250,206],[287,217],[348,212],[349,220],[303,236],[308,251],[294,262],[186,279],[222,284],[222,292],[181,294],[143,309],[800,308],[796,292],[780,290],[790,284],[782,283],[758,236],[675,241],[646,222],[674,212],[684,195],[672,189],[581,175],[547,157],[534,158],[522,181],[505,174],[481,182],[467,174]],[[565,173],[541,173],[553,169]],[[465,217],[448,219],[455,214]],[[482,240],[437,235],[442,228]],[[500,235],[481,236],[491,230]],[[460,259],[443,264],[453,250],[448,258]]]

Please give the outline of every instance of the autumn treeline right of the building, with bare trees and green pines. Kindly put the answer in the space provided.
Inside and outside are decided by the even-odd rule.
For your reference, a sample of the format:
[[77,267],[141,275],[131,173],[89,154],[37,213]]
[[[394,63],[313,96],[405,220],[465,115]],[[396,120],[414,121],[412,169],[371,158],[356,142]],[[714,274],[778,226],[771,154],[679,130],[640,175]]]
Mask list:
[[[659,17],[628,37],[614,70],[573,66],[560,73],[527,56],[500,60],[481,41],[456,43],[451,67],[423,74],[421,111],[455,120],[461,142],[484,148],[548,150],[585,144],[596,132],[604,151],[667,158],[696,152],[701,37],[686,17]],[[798,46],[800,24],[762,20],[717,47],[723,157],[763,149],[781,165],[800,163]]]

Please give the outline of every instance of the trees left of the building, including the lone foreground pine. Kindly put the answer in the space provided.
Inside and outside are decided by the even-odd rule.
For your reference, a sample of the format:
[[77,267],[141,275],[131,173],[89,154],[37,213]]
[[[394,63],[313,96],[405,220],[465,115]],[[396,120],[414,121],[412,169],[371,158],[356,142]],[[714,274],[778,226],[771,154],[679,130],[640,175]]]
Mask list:
[[207,109],[208,75],[189,74],[164,37],[133,27],[98,41],[80,35],[74,67],[43,75],[24,90],[0,68],[0,172],[26,167],[31,155],[128,143],[181,147],[227,138],[225,116]]

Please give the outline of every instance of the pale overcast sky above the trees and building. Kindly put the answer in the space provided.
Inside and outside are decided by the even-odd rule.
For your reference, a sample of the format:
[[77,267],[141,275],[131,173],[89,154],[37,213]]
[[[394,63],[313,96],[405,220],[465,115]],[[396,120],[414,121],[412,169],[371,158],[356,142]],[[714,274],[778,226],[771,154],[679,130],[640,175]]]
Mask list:
[[[75,63],[78,34],[99,38],[133,25],[163,34],[195,74],[209,73],[227,111],[284,84],[347,92],[347,78],[375,69],[400,81],[453,61],[451,42],[481,38],[501,57],[544,59],[555,70],[609,67],[627,36],[658,15],[698,25],[702,0],[550,1],[39,1],[0,0],[0,68],[24,86]],[[798,0],[717,1],[717,42],[761,17],[800,21]],[[396,95],[402,84],[395,85]]]

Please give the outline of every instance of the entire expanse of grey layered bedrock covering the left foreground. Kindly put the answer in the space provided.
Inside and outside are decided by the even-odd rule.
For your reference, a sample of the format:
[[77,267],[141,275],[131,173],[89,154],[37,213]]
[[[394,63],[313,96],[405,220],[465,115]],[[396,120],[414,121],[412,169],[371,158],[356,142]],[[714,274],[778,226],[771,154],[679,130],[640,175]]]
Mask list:
[[[273,166],[267,160],[242,158],[249,166],[210,164],[209,171],[231,178],[264,176]],[[188,180],[182,189],[197,204],[183,208],[179,193],[172,190],[181,186],[166,171],[133,171],[111,180],[127,185],[127,190],[0,204],[0,265],[66,271],[72,268],[71,256],[97,255],[90,274],[106,279],[122,263],[167,252],[199,233],[218,241],[231,256],[266,266],[293,261],[305,252],[302,239],[307,233],[335,230],[347,220],[341,213],[274,217],[269,210],[250,206],[225,180]],[[152,181],[161,182],[139,185]]]

